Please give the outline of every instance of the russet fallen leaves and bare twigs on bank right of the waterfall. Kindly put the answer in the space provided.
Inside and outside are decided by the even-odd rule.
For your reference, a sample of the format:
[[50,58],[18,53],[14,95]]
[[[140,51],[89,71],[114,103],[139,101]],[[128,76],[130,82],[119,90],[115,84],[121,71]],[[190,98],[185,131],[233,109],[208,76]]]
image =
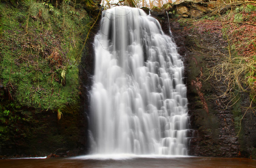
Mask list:
[[[211,1],[209,3],[215,3]],[[198,33],[218,33],[227,44],[227,53],[214,50],[217,55],[211,59],[217,59],[218,63],[211,68],[206,68],[208,79],[214,78],[215,88],[219,90],[218,83],[224,83],[226,90],[221,97],[230,97],[228,105],[233,105],[240,93],[250,93],[250,108],[254,111],[253,103],[256,103],[256,5],[253,3],[218,4],[219,8],[229,6],[229,10],[223,14],[213,16],[205,15],[201,19],[186,19],[180,24],[189,24],[188,30],[194,29]],[[204,53],[203,53],[204,54]],[[204,54],[209,57],[209,55]],[[236,93],[236,94],[234,94]],[[237,97],[238,96],[238,97]],[[236,98],[235,98],[236,97]]]

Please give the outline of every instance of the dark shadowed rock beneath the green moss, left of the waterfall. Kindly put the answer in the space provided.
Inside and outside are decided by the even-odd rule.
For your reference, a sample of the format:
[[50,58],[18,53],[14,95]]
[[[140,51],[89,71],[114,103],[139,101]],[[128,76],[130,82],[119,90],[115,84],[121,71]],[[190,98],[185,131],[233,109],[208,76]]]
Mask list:
[[[22,107],[12,109],[11,118],[21,118],[9,124],[0,137],[0,154],[6,157],[35,157],[54,153],[74,156],[85,151],[86,125],[78,107],[65,107],[59,121],[57,113]],[[1,126],[5,126],[1,125]],[[16,131],[11,129],[15,128]]]

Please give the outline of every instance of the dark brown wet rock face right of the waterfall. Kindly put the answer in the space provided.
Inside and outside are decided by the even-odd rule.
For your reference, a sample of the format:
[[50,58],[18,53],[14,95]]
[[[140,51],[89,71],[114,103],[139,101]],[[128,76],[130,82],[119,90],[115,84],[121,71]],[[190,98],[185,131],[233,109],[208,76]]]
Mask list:
[[[163,31],[168,34],[168,20],[161,20]],[[248,95],[243,95],[237,106],[227,106],[228,97],[219,97],[222,92],[214,88],[214,79],[205,81],[202,76],[206,67],[219,61],[214,50],[226,53],[226,41],[218,33],[199,33],[197,30],[185,31],[178,22],[172,21],[171,31],[179,53],[184,58],[185,82],[187,85],[188,108],[193,136],[189,142],[189,155],[214,157],[252,157],[256,155],[256,117],[246,113],[242,120],[242,129],[237,137],[237,117],[248,106]],[[219,83],[219,88],[225,86]]]

